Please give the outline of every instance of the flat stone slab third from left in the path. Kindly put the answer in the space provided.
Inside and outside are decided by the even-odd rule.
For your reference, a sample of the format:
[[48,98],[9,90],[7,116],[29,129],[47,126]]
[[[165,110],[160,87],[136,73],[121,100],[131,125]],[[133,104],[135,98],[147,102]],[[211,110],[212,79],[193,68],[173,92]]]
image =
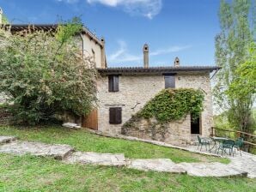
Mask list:
[[131,165],[128,165],[128,168],[142,171],[186,173],[182,167],[177,166],[170,159],[132,159]]

